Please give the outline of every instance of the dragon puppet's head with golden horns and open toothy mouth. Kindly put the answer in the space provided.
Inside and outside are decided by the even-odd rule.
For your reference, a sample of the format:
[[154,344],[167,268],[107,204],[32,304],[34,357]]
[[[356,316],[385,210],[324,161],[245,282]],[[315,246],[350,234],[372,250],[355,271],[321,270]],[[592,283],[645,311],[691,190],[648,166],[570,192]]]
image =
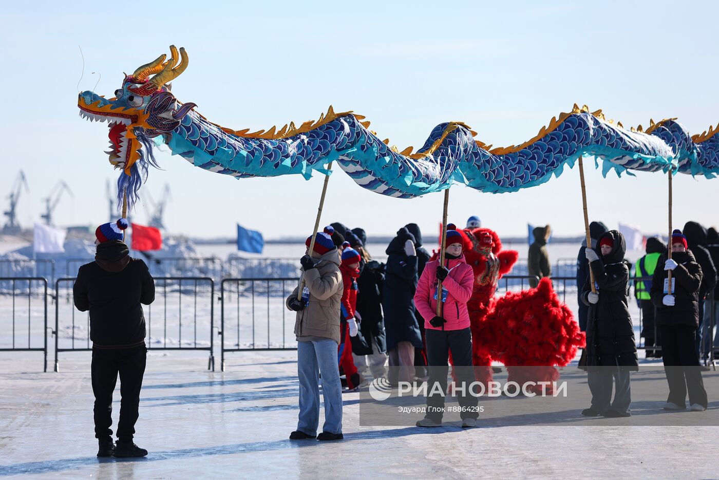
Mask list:
[[[152,158],[151,138],[170,135],[180,120],[196,105],[182,104],[170,94],[170,84],[187,68],[184,48],[179,52],[170,45],[170,59],[162,54],[138,67],[132,75],[125,74],[115,96],[106,99],[93,91],[78,95],[80,116],[91,122],[107,122],[109,127],[110,163],[131,175],[134,164],[143,158],[142,147]],[[178,63],[179,60],[179,63]],[[153,160],[154,163],[154,160]]]

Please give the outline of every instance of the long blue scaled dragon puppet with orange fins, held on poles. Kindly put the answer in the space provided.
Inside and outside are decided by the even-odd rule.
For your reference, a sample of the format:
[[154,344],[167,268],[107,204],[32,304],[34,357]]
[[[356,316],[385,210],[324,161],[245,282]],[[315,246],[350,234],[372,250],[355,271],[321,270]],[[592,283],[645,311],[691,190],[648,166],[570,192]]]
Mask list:
[[370,122],[332,107],[316,121],[290,122],[279,130],[230,130],[182,104],[170,93],[170,81],[183,73],[188,56],[170,46],[126,75],[110,99],[92,91],[78,96],[82,117],[108,122],[110,163],[122,168],[119,195],[137,199],[147,166],[155,165],[152,148],[165,143],[173,155],[195,166],[236,178],[312,171],[327,173],[336,161],[360,186],[378,194],[413,198],[449,188],[454,182],[492,193],[518,191],[559,176],[565,165],[584,156],[603,160],[603,173],[667,171],[713,176],[719,171],[719,125],[691,136],[676,119],[650,122],[643,130],[625,130],[605,119],[601,110],[577,107],[554,117],[539,134],[521,145],[492,148],[475,140],[462,122],[434,127],[422,148],[401,152],[368,130]]

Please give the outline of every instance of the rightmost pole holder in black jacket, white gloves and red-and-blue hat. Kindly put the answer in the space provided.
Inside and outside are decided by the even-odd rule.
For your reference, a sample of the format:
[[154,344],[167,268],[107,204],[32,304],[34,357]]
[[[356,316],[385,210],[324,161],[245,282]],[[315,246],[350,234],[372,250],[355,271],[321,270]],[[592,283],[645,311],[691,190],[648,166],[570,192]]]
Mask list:
[[[687,250],[687,238],[682,232],[674,230],[671,241],[672,258],[661,255],[649,291],[651,301],[656,305],[655,321],[661,330],[664,373],[669,384],[669,397],[664,409],[685,409],[689,391],[692,411],[703,412],[707,409],[707,392],[695,348],[702,268],[692,252]],[[668,271],[672,271],[671,288],[667,281]]]

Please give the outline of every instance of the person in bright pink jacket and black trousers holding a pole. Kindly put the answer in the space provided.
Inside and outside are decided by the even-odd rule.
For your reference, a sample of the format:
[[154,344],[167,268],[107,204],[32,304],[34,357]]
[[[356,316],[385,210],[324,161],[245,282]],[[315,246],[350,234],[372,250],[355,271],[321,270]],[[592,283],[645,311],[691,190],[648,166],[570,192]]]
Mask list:
[[[446,393],[449,352],[452,352],[454,373],[459,385],[454,389],[459,401],[462,427],[477,424],[477,397],[470,394],[475,381],[472,368],[472,334],[467,302],[472,296],[475,273],[462,254],[462,234],[454,225],[447,225],[444,265],[439,260],[427,263],[419,278],[414,304],[424,319],[429,382],[427,384],[427,410],[418,427],[439,427],[444,414],[444,395],[434,394],[436,383]],[[437,312],[438,281],[442,282],[442,314]]]

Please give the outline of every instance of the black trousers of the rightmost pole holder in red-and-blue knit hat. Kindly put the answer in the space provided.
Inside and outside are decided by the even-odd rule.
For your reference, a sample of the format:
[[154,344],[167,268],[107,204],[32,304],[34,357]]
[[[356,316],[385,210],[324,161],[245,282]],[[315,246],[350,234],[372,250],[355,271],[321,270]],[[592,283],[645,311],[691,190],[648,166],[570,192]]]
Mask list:
[[664,372],[669,384],[669,397],[680,407],[686,407],[687,391],[689,404],[707,407],[707,391],[704,389],[699,357],[695,348],[696,327],[692,325],[660,325],[661,350],[664,356]]

